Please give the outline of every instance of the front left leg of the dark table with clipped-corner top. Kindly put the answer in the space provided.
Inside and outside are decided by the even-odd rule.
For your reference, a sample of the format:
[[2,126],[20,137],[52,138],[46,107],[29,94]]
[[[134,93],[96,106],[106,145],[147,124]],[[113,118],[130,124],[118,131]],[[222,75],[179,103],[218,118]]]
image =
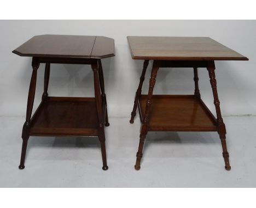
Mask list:
[[27,140],[30,137],[30,120],[31,114],[34,104],[34,93],[36,92],[36,83],[37,83],[37,69],[39,68],[39,62],[36,58],[32,59],[32,76],[30,81],[30,89],[28,91],[28,98],[27,98],[27,113],[26,113],[26,121],[23,125],[22,130],[22,150],[21,150],[21,158],[20,158],[20,166],[19,169],[24,169],[25,157],[26,157],[26,150],[27,150]]

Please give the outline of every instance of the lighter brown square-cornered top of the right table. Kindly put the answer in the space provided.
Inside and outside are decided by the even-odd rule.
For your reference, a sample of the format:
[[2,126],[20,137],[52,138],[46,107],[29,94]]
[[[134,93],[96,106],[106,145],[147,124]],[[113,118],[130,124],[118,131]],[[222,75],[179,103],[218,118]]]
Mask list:
[[127,36],[133,59],[248,60],[208,37]]

